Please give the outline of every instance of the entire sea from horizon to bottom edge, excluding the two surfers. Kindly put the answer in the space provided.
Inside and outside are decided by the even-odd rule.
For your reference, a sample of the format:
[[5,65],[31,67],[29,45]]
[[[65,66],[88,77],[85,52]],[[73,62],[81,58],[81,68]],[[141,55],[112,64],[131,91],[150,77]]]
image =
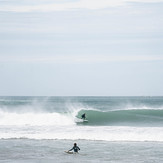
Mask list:
[[0,97],[0,162],[161,163],[162,151],[163,97]]

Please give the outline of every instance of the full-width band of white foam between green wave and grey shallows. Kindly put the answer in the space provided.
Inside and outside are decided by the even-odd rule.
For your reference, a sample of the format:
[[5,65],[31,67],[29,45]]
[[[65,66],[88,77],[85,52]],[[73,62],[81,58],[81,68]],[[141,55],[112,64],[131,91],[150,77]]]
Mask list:
[[[156,134],[157,133],[157,134]],[[68,140],[102,140],[102,141],[158,141],[163,142],[162,127],[90,127],[90,126],[57,126],[57,127],[23,127],[7,128],[0,138],[29,139],[68,139]]]

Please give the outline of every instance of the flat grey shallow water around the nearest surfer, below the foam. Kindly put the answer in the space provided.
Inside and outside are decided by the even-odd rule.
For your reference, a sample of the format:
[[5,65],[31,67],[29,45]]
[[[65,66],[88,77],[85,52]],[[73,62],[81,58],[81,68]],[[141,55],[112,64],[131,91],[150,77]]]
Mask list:
[[[77,142],[81,151],[78,155],[66,154],[64,151],[69,150],[74,142]],[[0,162],[160,163],[163,161],[162,142],[1,139],[0,151]]]

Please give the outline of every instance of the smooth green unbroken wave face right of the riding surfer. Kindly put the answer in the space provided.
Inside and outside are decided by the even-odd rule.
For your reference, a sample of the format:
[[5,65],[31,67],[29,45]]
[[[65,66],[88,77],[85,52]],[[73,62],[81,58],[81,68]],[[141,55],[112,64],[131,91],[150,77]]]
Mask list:
[[163,126],[163,110],[80,110],[77,117],[81,117],[82,113],[86,113],[88,119],[88,123],[83,123],[84,125]]

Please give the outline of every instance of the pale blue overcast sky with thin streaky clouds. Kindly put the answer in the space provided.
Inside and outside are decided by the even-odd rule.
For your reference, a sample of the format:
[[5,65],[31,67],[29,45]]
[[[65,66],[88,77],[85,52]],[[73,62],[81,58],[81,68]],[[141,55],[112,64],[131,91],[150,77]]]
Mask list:
[[163,95],[163,0],[0,0],[0,95]]

